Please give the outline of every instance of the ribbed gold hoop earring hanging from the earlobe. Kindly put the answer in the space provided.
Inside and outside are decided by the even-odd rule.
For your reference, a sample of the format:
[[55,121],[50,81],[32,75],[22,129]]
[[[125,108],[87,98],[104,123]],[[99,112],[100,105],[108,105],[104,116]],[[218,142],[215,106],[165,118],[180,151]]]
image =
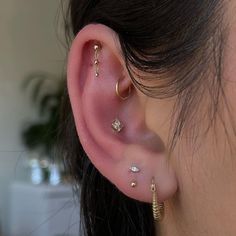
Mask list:
[[156,184],[154,182],[154,178],[152,178],[151,192],[152,192],[153,218],[155,221],[159,222],[163,219],[165,206],[164,206],[164,203],[158,203],[157,188],[156,188]]

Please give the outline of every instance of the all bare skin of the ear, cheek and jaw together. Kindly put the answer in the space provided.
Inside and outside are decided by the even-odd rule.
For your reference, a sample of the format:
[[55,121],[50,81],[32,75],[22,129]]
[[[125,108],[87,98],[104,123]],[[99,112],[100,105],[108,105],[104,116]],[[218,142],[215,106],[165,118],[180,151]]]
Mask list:
[[[223,81],[236,120],[236,24],[232,10],[236,4],[230,4]],[[93,65],[96,42],[102,45],[98,78]],[[120,93],[127,94],[132,86],[125,101],[115,93],[119,79]],[[151,179],[155,178],[159,201],[166,205],[161,235],[236,235],[236,139],[225,106],[220,114],[232,150],[220,120],[216,119],[215,131],[203,135],[207,120],[201,119],[196,123],[198,148],[193,149],[189,142],[193,137],[184,132],[168,159],[166,146],[175,98],[158,100],[141,93],[126,70],[115,32],[99,24],[84,27],[74,39],[68,61],[68,90],[80,141],[101,174],[127,196],[149,203]],[[209,101],[206,95],[199,117]],[[118,134],[111,129],[116,117],[124,124]],[[128,171],[134,163],[141,168],[138,174]],[[131,188],[134,179],[138,184]]]

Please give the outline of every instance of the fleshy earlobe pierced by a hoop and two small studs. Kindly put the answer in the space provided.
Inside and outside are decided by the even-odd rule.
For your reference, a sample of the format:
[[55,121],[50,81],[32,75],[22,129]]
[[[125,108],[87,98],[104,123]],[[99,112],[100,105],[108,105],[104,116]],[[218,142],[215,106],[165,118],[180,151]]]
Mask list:
[[[149,137],[149,142],[157,141],[157,137]],[[147,142],[148,143],[148,142]],[[157,141],[158,143],[158,141]],[[143,202],[152,202],[152,195],[150,192],[150,185],[152,178],[154,178],[157,185],[158,201],[164,202],[171,198],[177,191],[177,179],[175,172],[168,162],[165,153],[154,151],[150,148],[150,145],[131,144],[128,145],[123,154],[124,163],[122,166],[128,166],[129,163],[138,163],[140,173],[129,173],[128,177],[135,179],[138,186],[133,191],[130,189],[130,185],[121,184],[123,187],[122,192],[131,198],[135,198]],[[125,163],[126,162],[126,163]],[[125,175],[125,171],[122,170]]]

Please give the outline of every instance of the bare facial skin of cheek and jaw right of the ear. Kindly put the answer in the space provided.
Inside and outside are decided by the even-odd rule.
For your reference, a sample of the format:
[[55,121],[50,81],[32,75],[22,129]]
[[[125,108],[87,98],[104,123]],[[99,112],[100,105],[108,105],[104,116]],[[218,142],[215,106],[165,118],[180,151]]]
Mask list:
[[[201,146],[194,153],[184,138],[181,140],[171,159],[179,190],[168,203],[170,210],[161,224],[161,235],[236,235],[236,22],[233,14],[235,3],[230,4],[232,8],[228,15],[229,36],[225,44],[223,83],[234,121],[230,120],[224,107],[221,107],[221,114],[224,114],[232,149],[219,119],[216,132],[210,130],[205,139],[199,135]],[[154,104],[157,103],[150,100],[149,109],[156,111]],[[150,117],[150,126],[160,132],[162,128],[154,125],[154,122]],[[204,125],[205,122],[199,127],[202,129]],[[163,136],[165,133],[163,130]],[[179,150],[181,155],[178,154]]]

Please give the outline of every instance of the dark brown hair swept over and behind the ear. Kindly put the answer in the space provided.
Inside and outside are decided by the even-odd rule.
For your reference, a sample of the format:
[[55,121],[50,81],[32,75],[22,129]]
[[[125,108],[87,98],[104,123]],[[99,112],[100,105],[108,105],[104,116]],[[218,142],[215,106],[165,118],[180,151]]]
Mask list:
[[[193,117],[196,120],[205,94],[212,99],[209,127],[217,113],[223,91],[222,8],[220,0],[70,0],[66,32],[73,40],[87,24],[110,27],[117,33],[137,88],[157,99],[176,97],[168,145],[171,152],[187,124]],[[137,71],[143,72],[142,77]],[[155,235],[150,205],[123,195],[90,162],[77,137],[67,91],[62,125],[60,152],[80,197],[83,233]]]

